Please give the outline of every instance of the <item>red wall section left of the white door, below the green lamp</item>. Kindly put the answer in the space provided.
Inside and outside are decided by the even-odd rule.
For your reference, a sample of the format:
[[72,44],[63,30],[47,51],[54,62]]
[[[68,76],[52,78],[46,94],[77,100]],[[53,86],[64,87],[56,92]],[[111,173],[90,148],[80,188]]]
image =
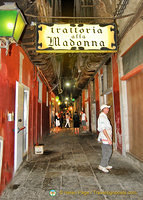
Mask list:
[[1,52],[0,69],[0,111],[2,121],[0,124],[0,136],[3,137],[3,161],[0,192],[9,183],[14,167],[14,121],[7,121],[8,112],[15,111],[15,84],[18,80],[19,65],[16,55],[18,49],[13,46],[11,56],[5,56],[4,50]]

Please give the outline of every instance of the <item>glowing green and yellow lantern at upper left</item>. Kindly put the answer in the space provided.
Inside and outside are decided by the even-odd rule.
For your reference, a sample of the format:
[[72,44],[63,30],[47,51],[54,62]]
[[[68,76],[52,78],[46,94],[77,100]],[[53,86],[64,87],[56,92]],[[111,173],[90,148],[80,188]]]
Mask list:
[[0,48],[6,48],[6,55],[9,45],[19,41],[25,25],[26,21],[15,3],[5,2],[0,6]]

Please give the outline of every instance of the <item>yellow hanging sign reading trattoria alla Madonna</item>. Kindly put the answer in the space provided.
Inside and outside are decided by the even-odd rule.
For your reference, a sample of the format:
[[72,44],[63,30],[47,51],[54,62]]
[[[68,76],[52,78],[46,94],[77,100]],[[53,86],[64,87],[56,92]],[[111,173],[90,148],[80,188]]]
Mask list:
[[112,53],[117,51],[115,24],[38,24],[39,53]]

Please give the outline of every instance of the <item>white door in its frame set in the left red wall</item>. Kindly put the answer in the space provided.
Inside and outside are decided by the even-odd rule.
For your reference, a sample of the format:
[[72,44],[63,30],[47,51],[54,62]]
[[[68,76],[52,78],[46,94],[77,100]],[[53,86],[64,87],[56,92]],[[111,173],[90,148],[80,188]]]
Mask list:
[[14,172],[28,152],[29,88],[16,82]]

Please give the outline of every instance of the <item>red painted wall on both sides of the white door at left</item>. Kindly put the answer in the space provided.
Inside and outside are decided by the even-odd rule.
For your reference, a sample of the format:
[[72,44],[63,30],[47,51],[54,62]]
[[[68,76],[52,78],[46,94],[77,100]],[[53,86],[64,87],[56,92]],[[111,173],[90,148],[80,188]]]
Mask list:
[[[14,170],[14,121],[7,121],[8,112],[15,112],[15,92],[16,81],[19,81],[19,60],[20,52],[24,55],[22,83],[30,88],[29,102],[29,139],[28,153],[33,152],[33,145],[39,140],[38,128],[42,126],[42,136],[49,130],[47,122],[49,116],[49,108],[46,107],[46,92],[47,87],[43,82],[43,102],[42,115],[38,115],[38,82],[36,80],[35,68],[30,62],[28,56],[19,46],[12,45],[11,52],[6,56],[5,50],[2,49],[0,59],[0,136],[3,137],[3,160],[2,160],[2,175],[0,183],[0,193],[5,186],[11,181]],[[38,119],[42,119],[42,123]]]

